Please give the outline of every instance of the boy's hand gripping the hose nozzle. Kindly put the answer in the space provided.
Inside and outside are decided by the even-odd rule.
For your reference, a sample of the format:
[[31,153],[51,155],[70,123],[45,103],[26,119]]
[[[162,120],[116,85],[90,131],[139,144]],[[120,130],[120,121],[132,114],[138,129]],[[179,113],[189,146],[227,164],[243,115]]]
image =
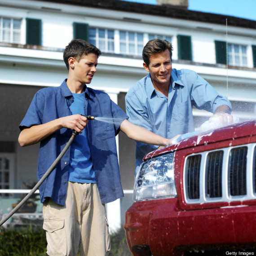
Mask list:
[[62,127],[75,130],[82,133],[84,127],[88,124],[88,119],[83,115],[68,115],[62,117]]

